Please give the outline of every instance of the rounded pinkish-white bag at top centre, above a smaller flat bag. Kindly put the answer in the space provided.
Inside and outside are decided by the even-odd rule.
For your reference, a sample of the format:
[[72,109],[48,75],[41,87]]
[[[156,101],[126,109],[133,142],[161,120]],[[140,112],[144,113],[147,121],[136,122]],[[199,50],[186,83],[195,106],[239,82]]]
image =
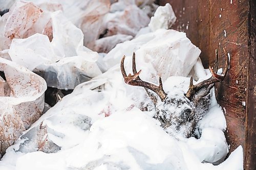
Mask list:
[[108,29],[106,36],[115,34],[135,36],[141,28],[148,25],[150,18],[136,5],[130,5],[124,11],[108,13],[104,22]]

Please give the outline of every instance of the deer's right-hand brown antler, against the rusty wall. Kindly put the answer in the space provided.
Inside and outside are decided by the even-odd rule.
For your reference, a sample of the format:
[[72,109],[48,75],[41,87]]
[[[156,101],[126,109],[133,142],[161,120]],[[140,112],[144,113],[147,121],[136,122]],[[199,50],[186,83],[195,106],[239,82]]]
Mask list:
[[[226,74],[227,74],[227,70],[228,70],[228,65],[229,65],[229,60],[228,60],[228,55],[227,52],[225,50],[225,48],[223,48],[225,56],[226,56],[226,63],[225,63],[225,68],[222,71],[221,75],[218,75],[216,72],[218,70],[218,51],[216,50],[215,52],[215,67],[214,70],[212,70],[212,68],[209,66],[210,72],[211,72],[211,77],[201,83],[198,83],[197,85],[193,85],[193,77],[190,78],[190,84],[189,84],[189,89],[186,93],[186,97],[191,100],[191,98],[198,92],[200,91],[202,88],[210,86],[211,84],[217,83],[217,82],[221,82],[224,80]],[[213,87],[210,86],[210,88],[208,90],[210,90]],[[208,91],[207,90],[207,91]]]

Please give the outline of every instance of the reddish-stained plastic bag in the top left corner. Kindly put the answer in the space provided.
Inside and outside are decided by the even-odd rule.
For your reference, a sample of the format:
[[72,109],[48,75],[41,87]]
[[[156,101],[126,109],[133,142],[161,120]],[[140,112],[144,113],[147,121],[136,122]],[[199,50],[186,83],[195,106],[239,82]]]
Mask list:
[[0,19],[0,49],[9,48],[13,38],[27,38],[35,33],[49,34],[50,16],[33,3],[16,2]]

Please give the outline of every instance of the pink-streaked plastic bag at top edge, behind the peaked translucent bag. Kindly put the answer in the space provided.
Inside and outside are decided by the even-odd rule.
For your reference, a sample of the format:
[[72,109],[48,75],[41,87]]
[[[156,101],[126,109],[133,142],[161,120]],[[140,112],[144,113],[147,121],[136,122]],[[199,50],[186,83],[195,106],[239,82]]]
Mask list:
[[[110,0],[53,0],[51,2],[47,0],[31,0],[31,2],[44,12],[61,10],[68,20],[82,30],[84,45],[89,48],[93,47],[94,41],[103,32],[103,17],[109,12],[111,4]],[[50,30],[50,27],[48,28]]]

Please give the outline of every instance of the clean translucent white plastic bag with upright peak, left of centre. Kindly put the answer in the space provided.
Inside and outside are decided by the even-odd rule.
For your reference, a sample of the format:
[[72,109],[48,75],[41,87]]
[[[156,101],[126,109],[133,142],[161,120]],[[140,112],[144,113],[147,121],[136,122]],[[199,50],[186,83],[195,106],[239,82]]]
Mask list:
[[81,82],[101,74],[98,54],[83,46],[83,33],[61,11],[51,14],[53,39],[34,34],[13,39],[9,55],[12,61],[44,77],[47,85],[74,89]]

